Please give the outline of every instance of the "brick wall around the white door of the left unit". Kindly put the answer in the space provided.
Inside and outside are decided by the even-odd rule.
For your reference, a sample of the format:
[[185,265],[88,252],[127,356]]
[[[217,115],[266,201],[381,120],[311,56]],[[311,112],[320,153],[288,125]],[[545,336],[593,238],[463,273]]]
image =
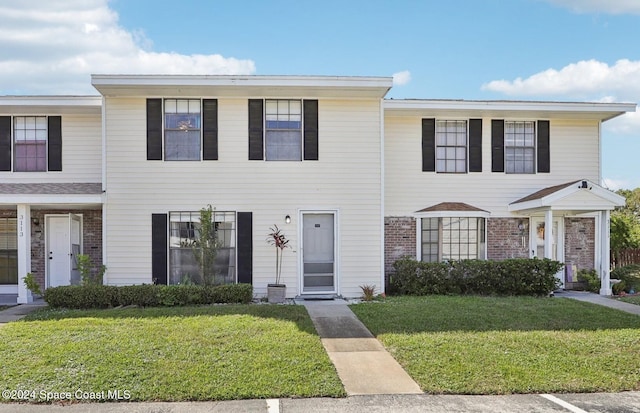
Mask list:
[[[46,258],[45,215],[73,213],[82,215],[82,251],[91,258],[95,267],[102,264],[102,210],[101,209],[32,209],[31,210],[31,273],[44,290]],[[1,218],[16,218],[17,211],[0,210]],[[34,224],[38,221],[38,225]]]

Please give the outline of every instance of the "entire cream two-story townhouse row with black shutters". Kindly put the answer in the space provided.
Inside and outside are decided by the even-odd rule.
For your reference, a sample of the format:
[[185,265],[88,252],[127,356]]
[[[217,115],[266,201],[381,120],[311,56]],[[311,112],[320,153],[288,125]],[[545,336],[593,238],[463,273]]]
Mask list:
[[[101,97],[0,98],[0,297],[103,262],[111,285],[197,278],[289,297],[382,290],[395,259],[548,257],[609,294],[601,124],[633,104],[383,100],[390,78],[94,75]],[[550,230],[549,230],[550,229]],[[565,277],[559,275],[564,282]]]

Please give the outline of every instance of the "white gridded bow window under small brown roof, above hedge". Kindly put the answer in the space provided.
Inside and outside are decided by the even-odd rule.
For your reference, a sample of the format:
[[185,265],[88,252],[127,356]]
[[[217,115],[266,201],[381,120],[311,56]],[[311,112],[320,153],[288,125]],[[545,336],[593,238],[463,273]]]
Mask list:
[[485,218],[428,217],[420,223],[422,261],[485,258]]

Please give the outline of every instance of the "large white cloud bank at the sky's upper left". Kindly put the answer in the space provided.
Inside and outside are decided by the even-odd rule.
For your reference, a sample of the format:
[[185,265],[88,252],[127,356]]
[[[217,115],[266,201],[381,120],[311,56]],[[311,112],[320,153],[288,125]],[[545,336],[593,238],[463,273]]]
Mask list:
[[91,73],[252,74],[251,60],[149,50],[107,0],[0,3],[0,94],[96,94]]

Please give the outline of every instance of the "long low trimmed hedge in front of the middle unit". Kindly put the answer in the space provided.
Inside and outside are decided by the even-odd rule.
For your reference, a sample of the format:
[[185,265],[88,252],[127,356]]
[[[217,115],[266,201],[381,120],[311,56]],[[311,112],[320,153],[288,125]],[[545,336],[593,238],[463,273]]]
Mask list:
[[172,307],[213,303],[248,303],[251,284],[228,285],[65,285],[47,288],[44,300],[53,308],[109,308],[137,305]]

